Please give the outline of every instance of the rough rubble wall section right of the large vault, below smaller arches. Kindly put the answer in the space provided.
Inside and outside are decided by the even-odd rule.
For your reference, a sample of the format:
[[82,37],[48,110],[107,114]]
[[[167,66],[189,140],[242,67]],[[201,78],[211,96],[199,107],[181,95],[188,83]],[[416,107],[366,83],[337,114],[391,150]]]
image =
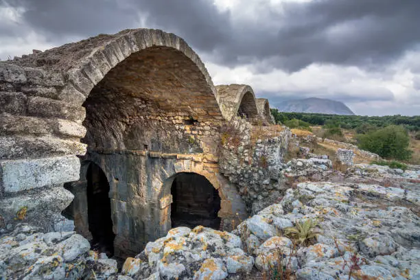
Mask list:
[[248,211],[256,213],[279,198],[285,187],[283,158],[291,137],[288,129],[268,139],[255,136],[252,125],[240,118],[222,130],[220,172],[237,185]]

